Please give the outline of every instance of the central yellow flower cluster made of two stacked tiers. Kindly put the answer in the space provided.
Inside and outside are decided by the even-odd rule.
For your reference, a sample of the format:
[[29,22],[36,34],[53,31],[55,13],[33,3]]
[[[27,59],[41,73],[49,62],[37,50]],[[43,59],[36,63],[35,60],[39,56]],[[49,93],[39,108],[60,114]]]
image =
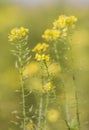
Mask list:
[[49,45],[47,43],[38,43],[32,52],[36,52],[35,59],[37,61],[46,61],[50,60],[50,56],[45,54],[46,50],[48,49]]

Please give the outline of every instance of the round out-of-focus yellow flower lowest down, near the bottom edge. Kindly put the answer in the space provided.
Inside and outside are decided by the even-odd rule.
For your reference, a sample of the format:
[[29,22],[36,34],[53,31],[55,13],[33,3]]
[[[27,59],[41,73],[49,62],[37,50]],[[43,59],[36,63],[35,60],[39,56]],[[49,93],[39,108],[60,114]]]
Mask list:
[[59,111],[56,109],[50,109],[47,114],[47,119],[50,122],[56,122],[59,118]]

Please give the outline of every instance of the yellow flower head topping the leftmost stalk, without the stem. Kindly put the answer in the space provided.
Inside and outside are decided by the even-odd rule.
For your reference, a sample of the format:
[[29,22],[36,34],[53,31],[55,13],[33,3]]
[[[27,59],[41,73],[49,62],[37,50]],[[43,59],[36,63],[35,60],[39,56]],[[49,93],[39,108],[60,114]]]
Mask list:
[[8,39],[11,42],[23,39],[27,36],[28,31],[29,30],[27,28],[24,28],[24,27],[14,28],[11,30],[11,32],[8,36]]

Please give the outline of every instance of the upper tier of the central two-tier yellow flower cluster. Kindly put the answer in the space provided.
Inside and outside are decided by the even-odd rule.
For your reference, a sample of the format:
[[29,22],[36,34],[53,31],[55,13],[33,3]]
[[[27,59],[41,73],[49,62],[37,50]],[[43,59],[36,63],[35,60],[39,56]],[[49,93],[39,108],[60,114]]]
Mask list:
[[45,52],[49,45],[47,43],[38,43],[35,48],[32,50],[32,52]]

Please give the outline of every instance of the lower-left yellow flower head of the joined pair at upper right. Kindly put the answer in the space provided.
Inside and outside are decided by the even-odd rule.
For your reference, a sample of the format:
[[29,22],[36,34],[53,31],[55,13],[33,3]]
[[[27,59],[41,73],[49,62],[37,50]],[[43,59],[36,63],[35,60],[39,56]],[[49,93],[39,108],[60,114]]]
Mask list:
[[60,32],[58,30],[54,29],[47,29],[45,30],[44,34],[42,35],[42,38],[45,40],[56,40],[60,37]]

